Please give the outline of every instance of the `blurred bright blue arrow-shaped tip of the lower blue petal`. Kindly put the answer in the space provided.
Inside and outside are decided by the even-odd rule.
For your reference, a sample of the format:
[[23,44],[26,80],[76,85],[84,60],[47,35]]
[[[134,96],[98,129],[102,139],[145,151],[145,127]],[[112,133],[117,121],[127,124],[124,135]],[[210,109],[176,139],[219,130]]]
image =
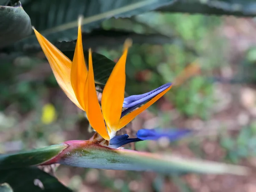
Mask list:
[[191,132],[182,129],[140,129],[137,132],[137,137],[141,140],[158,140],[161,137],[168,137],[170,141],[175,141]]

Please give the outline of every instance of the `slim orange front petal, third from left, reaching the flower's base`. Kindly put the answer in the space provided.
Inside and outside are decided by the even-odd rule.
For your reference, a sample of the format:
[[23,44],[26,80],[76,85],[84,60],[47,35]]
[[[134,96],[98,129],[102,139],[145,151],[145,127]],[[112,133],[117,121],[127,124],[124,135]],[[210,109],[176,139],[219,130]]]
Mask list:
[[95,83],[94,83],[94,74],[93,74],[93,61],[92,61],[92,53],[89,50],[89,70],[88,76],[86,79],[86,93],[87,99],[86,105],[86,113],[87,118],[90,122],[90,125],[97,131],[105,140],[110,140],[108,135],[108,131],[102,116],[102,111],[99,106],[98,97],[96,93]]

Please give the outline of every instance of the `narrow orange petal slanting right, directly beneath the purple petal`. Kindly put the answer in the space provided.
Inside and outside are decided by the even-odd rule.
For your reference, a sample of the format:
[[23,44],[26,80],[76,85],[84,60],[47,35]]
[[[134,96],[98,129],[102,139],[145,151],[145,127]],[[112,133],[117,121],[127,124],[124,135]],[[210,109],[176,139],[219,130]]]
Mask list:
[[170,86],[163,92],[161,92],[159,95],[155,96],[153,99],[151,99],[149,102],[147,102],[145,105],[142,105],[140,108],[135,109],[131,113],[128,113],[126,116],[123,116],[119,121],[118,130],[123,128],[125,125],[127,125],[129,122],[131,122],[132,119],[134,119],[138,114],[143,112],[145,109],[147,109],[150,105],[152,105],[154,102],[156,102],[160,97],[162,97],[167,91],[169,91],[172,88]]

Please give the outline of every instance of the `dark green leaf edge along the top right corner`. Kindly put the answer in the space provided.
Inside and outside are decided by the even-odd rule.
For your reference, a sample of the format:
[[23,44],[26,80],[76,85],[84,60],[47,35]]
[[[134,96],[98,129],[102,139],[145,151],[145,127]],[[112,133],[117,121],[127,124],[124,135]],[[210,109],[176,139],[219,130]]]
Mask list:
[[158,8],[162,12],[202,13],[207,15],[256,16],[255,0],[178,0]]

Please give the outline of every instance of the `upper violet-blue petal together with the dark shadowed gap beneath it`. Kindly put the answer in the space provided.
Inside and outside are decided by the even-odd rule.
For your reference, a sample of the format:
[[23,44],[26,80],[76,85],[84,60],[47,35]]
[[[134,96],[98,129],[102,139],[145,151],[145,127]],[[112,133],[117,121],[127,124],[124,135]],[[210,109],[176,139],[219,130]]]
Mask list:
[[130,113],[134,109],[140,107],[141,105],[145,104],[150,99],[153,99],[155,96],[157,96],[159,93],[162,93],[164,90],[166,90],[171,85],[172,85],[171,83],[166,83],[166,84],[162,85],[161,87],[158,87],[157,89],[152,90],[148,93],[144,93],[141,95],[132,95],[132,96],[126,97],[123,102],[123,108],[127,108],[127,109],[122,111],[120,118],[122,118],[126,114]]

